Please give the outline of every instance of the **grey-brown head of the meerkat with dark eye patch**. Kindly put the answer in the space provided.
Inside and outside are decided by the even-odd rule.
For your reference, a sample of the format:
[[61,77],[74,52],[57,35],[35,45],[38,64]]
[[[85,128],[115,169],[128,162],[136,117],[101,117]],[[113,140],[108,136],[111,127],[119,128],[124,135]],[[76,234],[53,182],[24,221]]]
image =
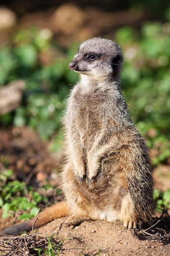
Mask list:
[[79,46],[69,68],[93,79],[119,79],[123,64],[119,45],[109,39],[92,38]]

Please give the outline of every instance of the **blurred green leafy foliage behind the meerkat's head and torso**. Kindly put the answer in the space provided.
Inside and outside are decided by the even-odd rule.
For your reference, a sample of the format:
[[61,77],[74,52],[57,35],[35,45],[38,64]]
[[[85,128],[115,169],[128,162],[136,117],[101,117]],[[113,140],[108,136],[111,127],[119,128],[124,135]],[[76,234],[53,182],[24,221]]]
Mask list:
[[[159,164],[170,152],[170,23],[146,22],[141,31],[122,27],[114,39],[125,55],[121,87],[131,118],[145,134],[148,146],[160,151],[153,159]],[[24,79],[26,90],[22,105],[0,116],[0,122],[28,125],[43,139],[53,137],[52,150],[60,150],[66,97],[78,80],[68,69],[77,46],[63,48],[49,29],[36,27],[19,31],[2,45],[0,85]],[[50,61],[42,61],[42,55],[51,56]]]

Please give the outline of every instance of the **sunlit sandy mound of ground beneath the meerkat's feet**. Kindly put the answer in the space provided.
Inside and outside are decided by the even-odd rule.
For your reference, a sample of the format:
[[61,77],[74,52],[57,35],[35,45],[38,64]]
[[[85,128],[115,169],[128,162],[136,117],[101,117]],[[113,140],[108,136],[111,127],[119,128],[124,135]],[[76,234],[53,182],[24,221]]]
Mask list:
[[140,232],[125,229],[119,222],[84,221],[77,227],[66,227],[64,218],[52,221],[40,228],[38,233],[56,234],[55,240],[66,239],[60,247],[62,255],[100,255],[101,256],[150,256],[170,255],[170,244],[148,240]]

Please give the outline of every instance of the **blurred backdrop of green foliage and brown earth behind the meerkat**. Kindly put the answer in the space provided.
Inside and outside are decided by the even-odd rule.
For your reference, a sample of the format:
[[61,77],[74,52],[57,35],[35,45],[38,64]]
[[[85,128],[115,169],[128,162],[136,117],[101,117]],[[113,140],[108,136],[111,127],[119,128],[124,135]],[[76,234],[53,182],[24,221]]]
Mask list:
[[[0,168],[4,188],[8,180],[18,180],[39,189],[41,195],[41,187],[46,186],[51,198],[55,189],[56,196],[57,171],[63,161],[61,118],[69,91],[78,80],[68,64],[79,43],[94,36],[121,45],[125,56],[121,88],[131,118],[150,149],[156,189],[166,191],[169,203],[168,0],[1,0]],[[7,170],[12,171],[7,174]],[[0,193],[0,206],[6,209],[9,198]]]

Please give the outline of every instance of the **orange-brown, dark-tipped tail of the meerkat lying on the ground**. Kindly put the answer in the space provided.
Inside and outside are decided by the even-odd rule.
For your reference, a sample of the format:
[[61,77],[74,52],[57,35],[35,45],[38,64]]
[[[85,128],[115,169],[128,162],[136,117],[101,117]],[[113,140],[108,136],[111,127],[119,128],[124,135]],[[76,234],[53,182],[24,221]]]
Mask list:
[[[29,221],[25,221],[21,224],[2,229],[0,231],[0,236],[18,235],[22,232],[29,232],[31,231],[32,227],[37,229],[56,218],[68,216],[68,213],[69,211],[66,201],[58,202],[40,212],[37,220],[36,217],[34,217]],[[36,222],[34,223],[35,220]]]

